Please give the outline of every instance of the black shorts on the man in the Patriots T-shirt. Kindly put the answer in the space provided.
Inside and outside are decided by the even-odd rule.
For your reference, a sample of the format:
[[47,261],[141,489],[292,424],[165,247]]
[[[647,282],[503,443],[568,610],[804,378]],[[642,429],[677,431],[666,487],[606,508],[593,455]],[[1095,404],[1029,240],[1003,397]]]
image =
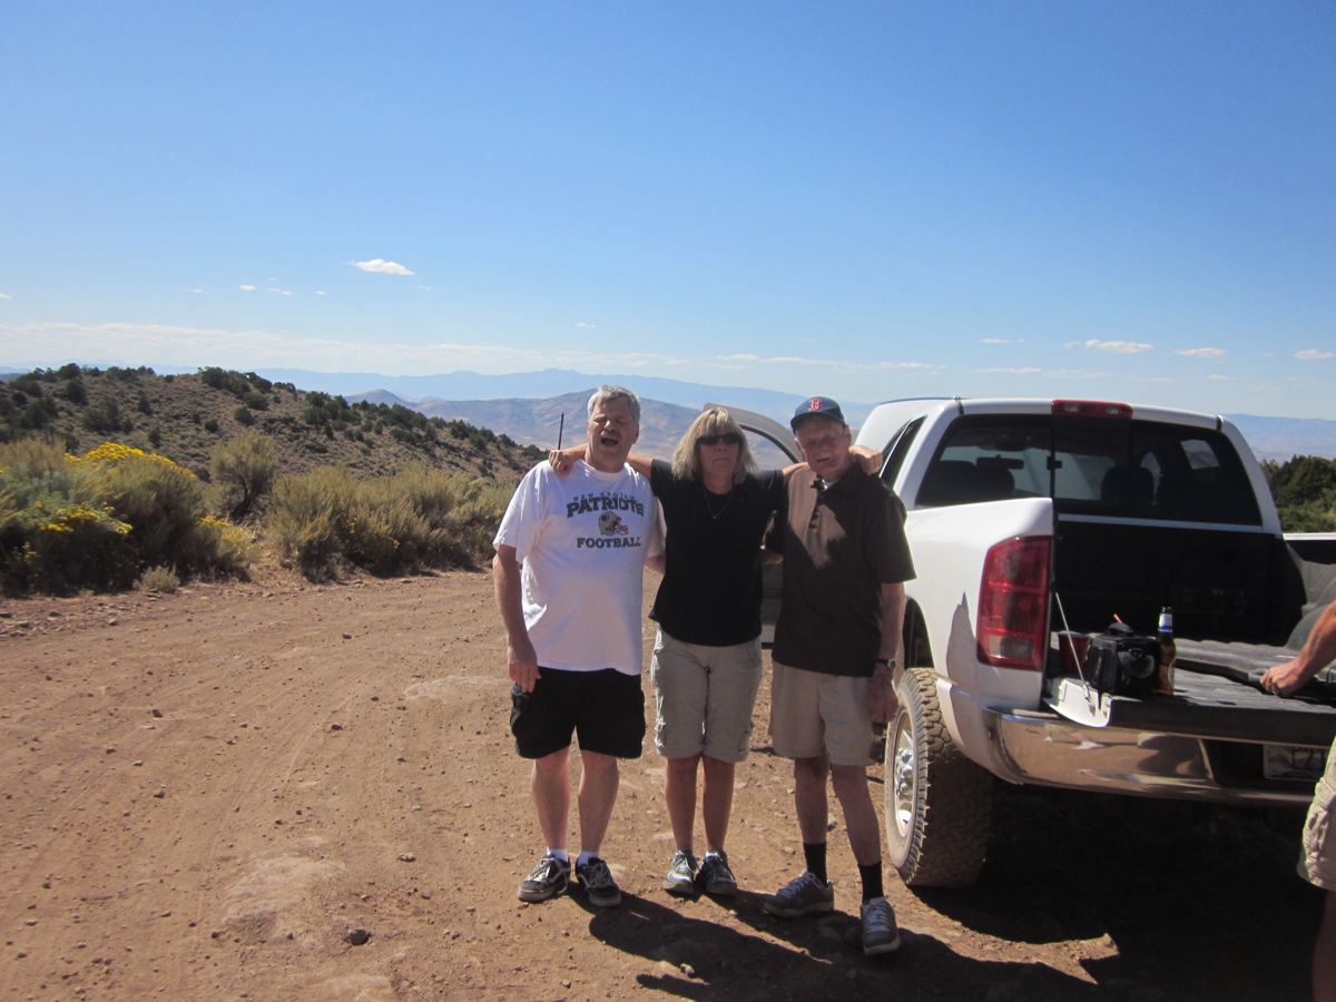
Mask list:
[[645,739],[645,693],[639,675],[615,668],[564,672],[538,668],[533,692],[510,689],[510,733],[522,759],[541,759],[570,747],[639,759]]

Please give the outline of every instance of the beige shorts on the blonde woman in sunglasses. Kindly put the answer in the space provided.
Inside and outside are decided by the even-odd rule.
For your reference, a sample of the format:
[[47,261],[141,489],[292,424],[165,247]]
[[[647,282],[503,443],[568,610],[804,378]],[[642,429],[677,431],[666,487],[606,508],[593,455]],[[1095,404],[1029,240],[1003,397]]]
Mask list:
[[689,759],[701,752],[719,762],[745,759],[760,675],[760,637],[707,647],[687,644],[660,629],[649,663],[655,748],[665,759]]

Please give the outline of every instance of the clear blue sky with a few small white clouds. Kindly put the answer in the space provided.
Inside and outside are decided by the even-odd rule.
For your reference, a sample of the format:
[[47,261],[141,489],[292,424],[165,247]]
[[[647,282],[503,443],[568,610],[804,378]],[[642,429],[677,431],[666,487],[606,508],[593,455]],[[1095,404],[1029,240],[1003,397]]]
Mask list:
[[1325,1],[15,0],[0,130],[5,367],[1336,418]]

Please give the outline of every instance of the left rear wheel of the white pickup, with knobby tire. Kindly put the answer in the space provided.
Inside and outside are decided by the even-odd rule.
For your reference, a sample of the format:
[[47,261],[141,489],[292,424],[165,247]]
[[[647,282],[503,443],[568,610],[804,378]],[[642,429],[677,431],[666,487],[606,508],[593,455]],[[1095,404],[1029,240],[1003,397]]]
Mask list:
[[993,776],[951,740],[931,668],[906,668],[886,743],[886,843],[910,887],[969,887],[983,868]]

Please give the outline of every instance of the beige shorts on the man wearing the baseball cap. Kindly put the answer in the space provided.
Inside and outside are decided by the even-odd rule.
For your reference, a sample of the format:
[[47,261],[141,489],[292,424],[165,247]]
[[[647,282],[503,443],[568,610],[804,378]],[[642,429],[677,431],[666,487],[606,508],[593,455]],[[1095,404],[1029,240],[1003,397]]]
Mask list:
[[830,758],[835,766],[871,766],[872,713],[867,679],[775,664],[770,736],[786,759]]

